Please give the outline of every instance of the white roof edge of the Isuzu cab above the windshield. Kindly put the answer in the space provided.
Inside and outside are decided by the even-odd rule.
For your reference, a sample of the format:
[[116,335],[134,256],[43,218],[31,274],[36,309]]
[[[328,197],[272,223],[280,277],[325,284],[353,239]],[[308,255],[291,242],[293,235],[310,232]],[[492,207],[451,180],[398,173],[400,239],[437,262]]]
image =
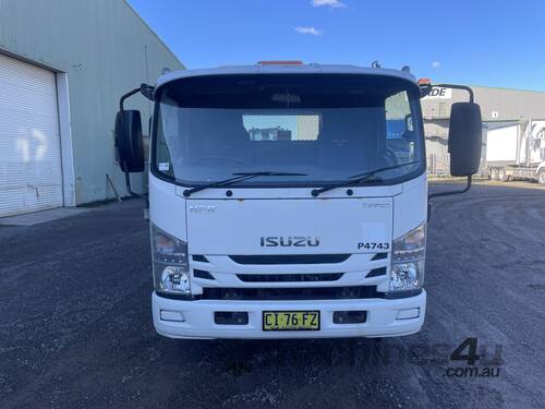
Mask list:
[[383,68],[365,68],[358,65],[336,64],[275,64],[258,63],[255,65],[226,65],[203,70],[181,70],[161,75],[157,81],[156,89],[172,81],[190,76],[207,75],[237,75],[237,74],[362,74],[382,75],[403,79],[416,83],[416,79],[409,72]]

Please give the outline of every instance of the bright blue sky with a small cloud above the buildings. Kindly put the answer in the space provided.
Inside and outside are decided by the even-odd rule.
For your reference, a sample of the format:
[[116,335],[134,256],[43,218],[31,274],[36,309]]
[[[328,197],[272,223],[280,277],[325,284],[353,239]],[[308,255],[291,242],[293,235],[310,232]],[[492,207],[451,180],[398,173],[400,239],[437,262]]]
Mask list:
[[545,91],[545,0],[129,0],[189,69],[299,59]]

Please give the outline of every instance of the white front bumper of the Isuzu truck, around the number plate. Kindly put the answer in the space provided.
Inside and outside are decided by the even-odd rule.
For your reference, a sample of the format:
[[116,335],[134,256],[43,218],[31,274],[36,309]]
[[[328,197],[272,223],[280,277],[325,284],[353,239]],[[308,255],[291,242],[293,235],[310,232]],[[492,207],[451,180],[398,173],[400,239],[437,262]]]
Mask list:
[[[170,338],[344,338],[344,337],[393,337],[410,335],[424,324],[426,292],[397,299],[365,300],[317,300],[317,301],[181,301],[152,296],[154,325],[158,334]],[[419,316],[400,318],[407,310],[419,310]],[[161,310],[181,313],[183,322],[161,320]],[[320,329],[312,332],[264,332],[263,311],[320,311]],[[334,311],[367,311],[362,324],[334,324]],[[245,311],[246,325],[219,325],[215,323],[216,311]],[[165,315],[165,314],[164,314]],[[407,315],[407,314],[405,314]]]

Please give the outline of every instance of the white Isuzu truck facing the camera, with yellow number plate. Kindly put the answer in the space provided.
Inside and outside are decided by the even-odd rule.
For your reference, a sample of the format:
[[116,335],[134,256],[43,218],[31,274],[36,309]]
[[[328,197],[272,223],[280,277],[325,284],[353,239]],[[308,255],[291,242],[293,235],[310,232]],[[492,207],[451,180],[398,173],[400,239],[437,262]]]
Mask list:
[[[481,111],[455,104],[451,172],[479,168]],[[155,105],[149,225],[156,330],[173,338],[385,337],[424,323],[427,181],[408,72],[262,62],[179,71],[122,96],[128,190]],[[272,132],[271,130],[276,130]],[[266,136],[264,136],[266,135]],[[465,189],[465,190],[467,190]],[[465,191],[464,190],[464,191]],[[460,192],[447,192],[460,193]]]

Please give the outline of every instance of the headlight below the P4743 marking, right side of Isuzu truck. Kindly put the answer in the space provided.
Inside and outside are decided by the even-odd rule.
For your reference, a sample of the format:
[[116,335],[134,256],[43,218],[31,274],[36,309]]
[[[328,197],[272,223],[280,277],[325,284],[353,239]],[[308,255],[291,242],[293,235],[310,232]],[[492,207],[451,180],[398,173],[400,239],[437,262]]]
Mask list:
[[391,254],[390,289],[407,291],[421,288],[424,282],[426,255],[426,224],[393,241]]

